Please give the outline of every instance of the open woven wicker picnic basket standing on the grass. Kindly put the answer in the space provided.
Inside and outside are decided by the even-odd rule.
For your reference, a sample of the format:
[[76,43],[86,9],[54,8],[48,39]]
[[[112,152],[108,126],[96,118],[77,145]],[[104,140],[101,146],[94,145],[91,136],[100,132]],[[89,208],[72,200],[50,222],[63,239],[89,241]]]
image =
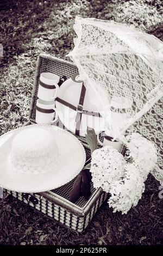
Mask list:
[[[30,103],[29,124],[35,123],[35,107],[40,74],[42,72],[52,72],[60,77],[66,76],[66,78],[70,78],[77,72],[77,70],[76,65],[74,65],[70,60],[47,54],[40,54],[37,59],[36,76],[32,92],[32,100]],[[66,130],[59,119],[54,125]],[[90,149],[85,138],[79,136],[76,137],[83,143],[86,155],[90,155]],[[54,218],[54,220],[66,225],[66,227],[82,232],[85,230],[87,225],[89,225],[92,217],[106,200],[108,194],[103,192],[101,188],[96,190],[91,184],[91,196],[89,200],[86,200],[84,197],[80,197],[77,202],[73,204],[70,202],[69,197],[74,180],[75,179],[55,190],[42,193],[28,194],[9,190],[5,191],[22,202],[43,212],[43,214],[46,214]]]

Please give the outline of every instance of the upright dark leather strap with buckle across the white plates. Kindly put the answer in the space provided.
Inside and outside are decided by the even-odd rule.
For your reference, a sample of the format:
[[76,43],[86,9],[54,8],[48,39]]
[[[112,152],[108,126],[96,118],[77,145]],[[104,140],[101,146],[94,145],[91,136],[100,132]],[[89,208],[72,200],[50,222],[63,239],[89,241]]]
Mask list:
[[86,88],[84,86],[84,83],[82,83],[82,90],[80,93],[80,99],[79,99],[79,104],[77,106],[77,115],[76,115],[76,135],[78,135],[78,136],[80,133],[80,125],[81,125],[81,120],[82,120],[85,92],[86,92]]

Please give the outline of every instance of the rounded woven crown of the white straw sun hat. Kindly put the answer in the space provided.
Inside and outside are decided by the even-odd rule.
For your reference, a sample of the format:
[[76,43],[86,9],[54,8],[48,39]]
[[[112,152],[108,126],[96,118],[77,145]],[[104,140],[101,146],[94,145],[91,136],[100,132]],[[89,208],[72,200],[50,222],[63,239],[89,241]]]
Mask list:
[[53,134],[46,129],[30,127],[17,133],[12,142],[12,166],[19,172],[49,172],[55,169],[58,157],[59,150]]

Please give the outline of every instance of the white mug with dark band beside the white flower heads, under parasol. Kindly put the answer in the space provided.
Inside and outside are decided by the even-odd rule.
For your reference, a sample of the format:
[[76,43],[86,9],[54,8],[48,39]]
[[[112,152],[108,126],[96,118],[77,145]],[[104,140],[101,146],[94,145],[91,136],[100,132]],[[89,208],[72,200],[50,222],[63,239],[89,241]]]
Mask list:
[[[104,141],[103,141],[103,143],[102,143],[102,142],[100,141],[100,139],[99,139],[99,134],[100,134],[101,132],[104,132]],[[122,143],[119,142],[119,141],[112,141],[112,137],[111,137],[111,135],[110,135],[110,131],[109,131],[109,130],[101,131],[101,132],[98,132],[98,133],[97,133],[97,141],[98,141],[98,143],[99,143],[101,146],[105,147],[106,145],[109,145],[109,146],[111,146],[112,148],[117,149],[118,151],[121,150],[121,148],[122,148]]]

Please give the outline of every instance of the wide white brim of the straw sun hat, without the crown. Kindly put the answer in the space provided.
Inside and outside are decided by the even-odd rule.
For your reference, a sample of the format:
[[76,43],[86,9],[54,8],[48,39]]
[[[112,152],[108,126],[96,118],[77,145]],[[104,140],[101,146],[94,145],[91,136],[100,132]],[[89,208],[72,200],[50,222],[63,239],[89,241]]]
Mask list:
[[[54,172],[46,174],[25,174],[12,170],[9,156],[15,135],[31,126],[49,129],[53,132],[60,153],[60,161]],[[24,193],[50,191],[67,184],[82,170],[85,163],[85,150],[70,132],[52,125],[29,125],[7,132],[0,137],[0,186],[8,190]],[[55,161],[55,159],[54,159]]]

